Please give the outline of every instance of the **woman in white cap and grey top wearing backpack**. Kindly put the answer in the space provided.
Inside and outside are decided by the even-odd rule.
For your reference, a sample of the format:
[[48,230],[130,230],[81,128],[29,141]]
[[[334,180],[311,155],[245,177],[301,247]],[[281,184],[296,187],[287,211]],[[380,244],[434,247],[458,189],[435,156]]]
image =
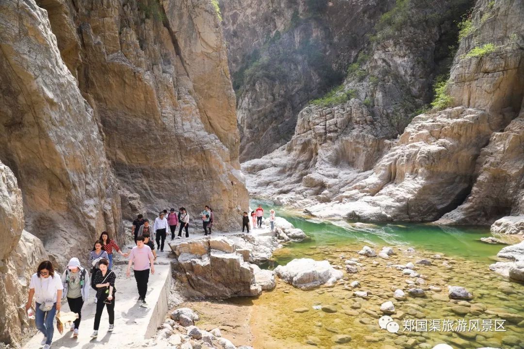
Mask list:
[[78,319],[74,320],[71,326],[73,337],[78,337],[78,328],[82,320],[82,307],[89,298],[89,273],[80,265],[77,257],[69,260],[67,268],[62,274],[63,299],[67,299],[69,309],[78,314]]

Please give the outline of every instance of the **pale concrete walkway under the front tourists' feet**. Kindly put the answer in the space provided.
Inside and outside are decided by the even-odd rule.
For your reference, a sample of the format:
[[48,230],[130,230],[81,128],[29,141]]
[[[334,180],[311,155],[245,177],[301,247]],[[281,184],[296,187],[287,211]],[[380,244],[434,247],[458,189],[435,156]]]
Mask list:
[[[168,250],[168,249],[167,249]],[[170,253],[170,252],[169,252]],[[54,336],[52,349],[59,348],[132,348],[143,344],[144,339],[154,335],[157,327],[165,320],[168,309],[168,297],[171,286],[171,264],[168,252],[158,252],[155,261],[155,274],[149,276],[146,300],[147,308],[137,303],[138,291],[136,288],[133,271],[131,277],[126,277],[127,258],[115,254],[115,265],[113,271],[117,278],[115,282],[115,329],[107,332],[108,316],[104,308],[102,320],[100,321],[99,335],[96,339],[91,338],[95,316],[95,291],[91,289],[89,301],[82,308],[82,321],[80,322],[79,336],[73,338],[73,332],[65,326],[63,334],[56,330],[54,324]],[[62,311],[69,311],[67,301],[62,303]],[[26,349],[43,347],[40,345],[43,335],[38,332],[24,345]]]

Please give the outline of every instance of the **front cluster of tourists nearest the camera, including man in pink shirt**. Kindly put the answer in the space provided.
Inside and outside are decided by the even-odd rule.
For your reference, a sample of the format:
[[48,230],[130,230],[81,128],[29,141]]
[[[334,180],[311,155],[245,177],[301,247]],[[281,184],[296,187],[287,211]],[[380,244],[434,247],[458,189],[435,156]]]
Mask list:
[[71,258],[61,278],[55,275],[50,261],[43,261],[38,265],[37,272],[32,275],[29,283],[26,310],[32,308],[32,301],[35,299],[35,322],[37,329],[43,333],[41,344],[44,349],[49,349],[51,346],[54,333],[53,320],[57,311],[61,309],[62,300],[67,299],[69,309],[78,314],[78,318],[71,326],[73,337],[78,336],[82,307],[89,298],[90,287],[96,291],[96,312],[91,337],[98,336],[104,307],[109,316],[108,331],[113,331],[116,291],[116,273],[112,270],[113,250],[124,257],[129,257],[127,277],[130,276],[130,268],[134,264],[139,295],[137,302],[146,306],[147,283],[149,273],[155,274],[156,253],[154,253],[155,245],[149,241],[148,224],[140,227],[140,233],[141,235],[136,238],[136,246],[129,253],[123,253],[116,242],[110,239],[109,234],[106,231],[102,232],[100,239],[94,243],[93,250],[89,253],[91,264],[89,272],[81,266],[77,257]]

